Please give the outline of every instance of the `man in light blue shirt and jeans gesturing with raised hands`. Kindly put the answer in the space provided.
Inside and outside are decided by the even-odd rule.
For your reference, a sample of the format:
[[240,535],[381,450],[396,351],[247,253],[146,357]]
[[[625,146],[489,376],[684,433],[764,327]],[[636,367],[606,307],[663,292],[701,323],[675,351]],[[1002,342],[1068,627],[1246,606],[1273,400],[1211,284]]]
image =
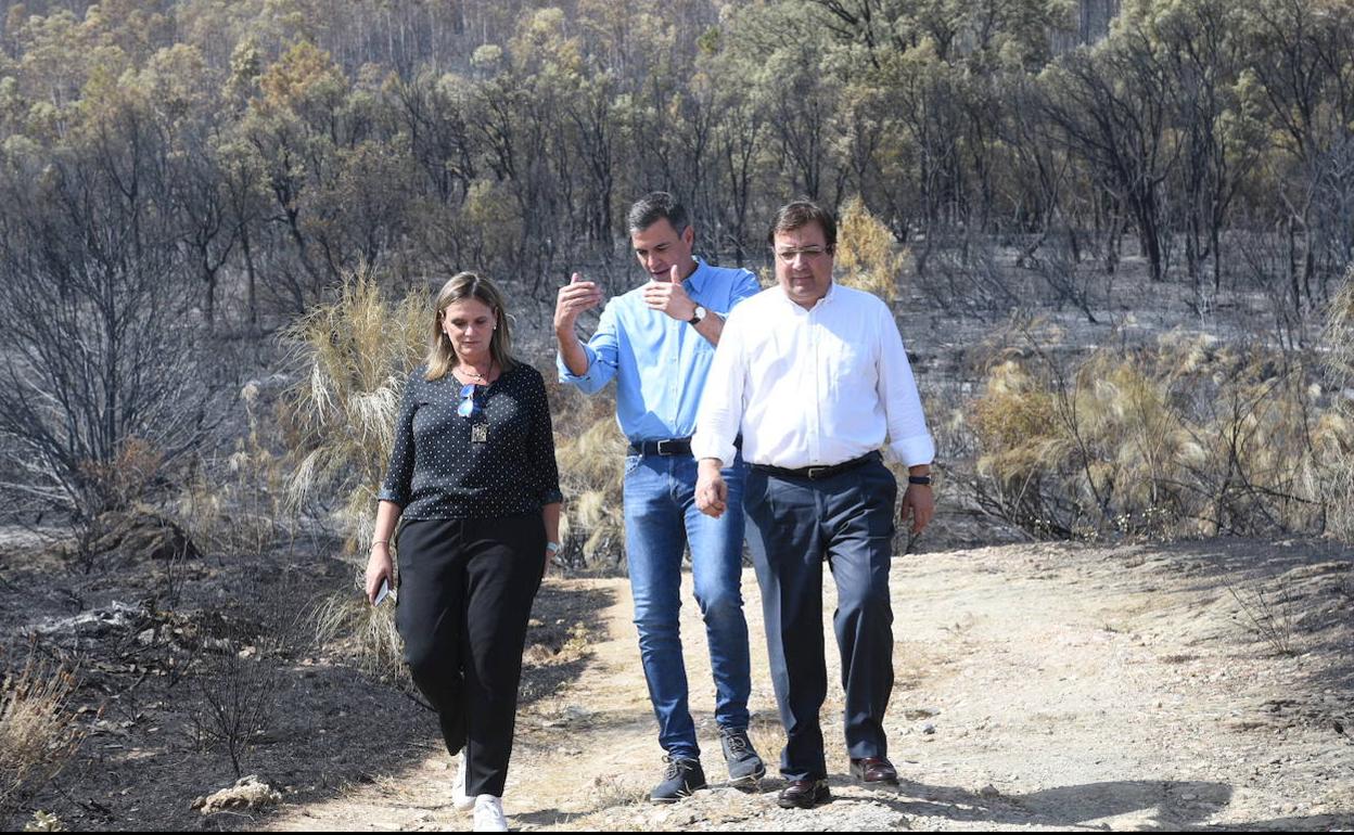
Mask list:
[[[765,765],[747,739],[751,689],[742,577],[743,514],[715,520],[696,507],[696,429],[705,375],[730,310],[760,292],[746,269],[692,257],[695,230],[672,195],[654,192],[628,215],[630,241],[649,281],[607,303],[584,345],[578,314],[597,307],[601,290],[574,273],[555,304],[559,379],[584,394],[616,380],[616,420],[630,438],[626,457],[626,552],[639,628],[639,655],[666,755],[650,798],[674,801],[705,786],[696,727],[686,704],[678,612],[681,559],[691,547],[696,602],[705,621],[715,678],[715,720],[734,785],[756,785]],[[741,502],[746,467],[724,470],[730,502]],[[737,484],[737,486],[735,486]],[[737,505],[741,509],[741,503]]]

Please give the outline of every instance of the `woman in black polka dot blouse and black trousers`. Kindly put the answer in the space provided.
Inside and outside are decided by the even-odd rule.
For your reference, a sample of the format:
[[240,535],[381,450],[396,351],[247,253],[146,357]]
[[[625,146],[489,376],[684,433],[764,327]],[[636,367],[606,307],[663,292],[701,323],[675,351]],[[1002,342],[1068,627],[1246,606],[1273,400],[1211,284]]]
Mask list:
[[379,498],[367,597],[394,585],[394,537],[405,660],[447,750],[464,748],[455,803],[497,828],[527,620],[559,548],[562,497],[546,386],[510,356],[502,296],[473,272],[437,295]]

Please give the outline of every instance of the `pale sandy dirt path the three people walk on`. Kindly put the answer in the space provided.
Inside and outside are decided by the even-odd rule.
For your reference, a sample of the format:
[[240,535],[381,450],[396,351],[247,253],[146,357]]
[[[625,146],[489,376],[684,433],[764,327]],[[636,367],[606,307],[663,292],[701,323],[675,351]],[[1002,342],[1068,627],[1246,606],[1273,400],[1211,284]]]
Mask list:
[[[887,727],[903,784],[865,792],[844,778],[838,692],[825,709],[838,800],[811,812],[777,809],[773,780],[762,794],[716,786],[676,807],[640,803],[661,751],[628,590],[567,581],[613,591],[609,637],[575,682],[520,716],[505,808],[517,828],[567,830],[1354,827],[1354,742],[1335,731],[1354,725],[1354,563],[1320,551],[1020,545],[896,559]],[[780,728],[750,570],[743,591],[754,742],[773,759]],[[1257,620],[1273,627],[1269,640]],[[718,780],[714,687],[691,604],[684,635]],[[1285,640],[1292,654],[1275,652]],[[433,755],[267,826],[466,830],[450,777]]]

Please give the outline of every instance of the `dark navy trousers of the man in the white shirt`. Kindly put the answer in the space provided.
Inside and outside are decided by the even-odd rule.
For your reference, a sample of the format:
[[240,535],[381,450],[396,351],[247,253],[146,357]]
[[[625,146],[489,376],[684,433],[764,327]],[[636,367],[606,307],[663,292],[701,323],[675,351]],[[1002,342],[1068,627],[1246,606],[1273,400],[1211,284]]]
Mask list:
[[888,601],[898,482],[879,460],[831,478],[747,474],[747,544],[761,586],[772,683],[785,727],[787,780],[827,775],[818,715],[827,697],[823,560],[837,581],[833,628],[846,692],[852,758],[887,757],[884,710],[894,689]]

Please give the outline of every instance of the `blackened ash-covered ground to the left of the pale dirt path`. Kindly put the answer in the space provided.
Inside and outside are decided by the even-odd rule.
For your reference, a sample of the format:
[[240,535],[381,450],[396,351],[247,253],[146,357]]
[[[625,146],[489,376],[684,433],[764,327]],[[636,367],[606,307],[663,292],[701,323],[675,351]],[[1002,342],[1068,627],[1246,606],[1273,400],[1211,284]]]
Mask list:
[[[23,532],[0,541],[0,664],[16,670],[37,652],[74,670],[70,709],[87,731],[76,759],[3,828],[22,827],[35,809],[72,830],[257,826],[267,809],[192,808],[236,782],[214,739],[222,704],[227,719],[263,716],[240,754],[241,773],[271,785],[283,808],[322,804],[444,757],[433,715],[398,682],[360,673],[343,643],[317,644],[314,606],[352,586],[353,568],[333,558],[332,540],[230,560],[116,558],[89,572]],[[611,594],[543,589],[524,705],[581,675]]]

